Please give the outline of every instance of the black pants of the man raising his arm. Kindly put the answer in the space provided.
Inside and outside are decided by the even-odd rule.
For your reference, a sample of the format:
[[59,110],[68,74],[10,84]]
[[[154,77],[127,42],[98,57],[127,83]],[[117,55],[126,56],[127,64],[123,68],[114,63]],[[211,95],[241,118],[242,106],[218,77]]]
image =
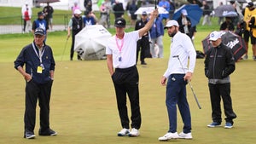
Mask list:
[[139,76],[136,66],[125,69],[115,69],[112,76],[116,100],[119,110],[119,118],[123,128],[129,129],[129,118],[126,107],[126,93],[131,103],[131,128],[140,129],[142,124],[139,106]]

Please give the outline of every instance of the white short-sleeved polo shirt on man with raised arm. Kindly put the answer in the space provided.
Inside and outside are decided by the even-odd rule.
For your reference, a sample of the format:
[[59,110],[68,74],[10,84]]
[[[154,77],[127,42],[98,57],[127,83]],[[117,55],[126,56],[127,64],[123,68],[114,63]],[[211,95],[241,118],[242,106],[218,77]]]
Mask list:
[[125,32],[123,39],[115,35],[108,39],[106,55],[112,55],[113,68],[128,68],[136,65],[139,32]]

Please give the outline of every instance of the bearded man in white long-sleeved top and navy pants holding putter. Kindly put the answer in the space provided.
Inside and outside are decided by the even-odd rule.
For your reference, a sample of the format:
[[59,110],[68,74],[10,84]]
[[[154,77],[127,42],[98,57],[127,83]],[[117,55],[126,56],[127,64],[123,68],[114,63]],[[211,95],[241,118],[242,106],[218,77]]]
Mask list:
[[[194,45],[186,34],[178,31],[176,20],[169,20],[165,26],[172,37],[168,68],[160,79],[166,86],[166,107],[169,117],[169,130],[159,141],[183,138],[192,139],[191,116],[187,101],[186,84],[192,78],[195,69],[196,53]],[[188,66],[189,61],[189,66]],[[166,80],[168,79],[167,85]],[[177,107],[183,119],[183,131],[177,134]]]

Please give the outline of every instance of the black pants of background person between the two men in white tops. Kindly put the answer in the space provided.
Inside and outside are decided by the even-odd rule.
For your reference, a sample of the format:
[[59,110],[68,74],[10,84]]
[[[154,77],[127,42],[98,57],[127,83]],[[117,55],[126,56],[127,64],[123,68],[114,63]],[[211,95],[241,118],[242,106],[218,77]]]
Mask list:
[[145,58],[151,57],[148,37],[142,37],[142,39],[137,41],[137,59],[136,59],[136,61],[138,60],[138,54],[139,54],[140,50],[141,50],[141,55],[140,55],[141,62],[145,62]]

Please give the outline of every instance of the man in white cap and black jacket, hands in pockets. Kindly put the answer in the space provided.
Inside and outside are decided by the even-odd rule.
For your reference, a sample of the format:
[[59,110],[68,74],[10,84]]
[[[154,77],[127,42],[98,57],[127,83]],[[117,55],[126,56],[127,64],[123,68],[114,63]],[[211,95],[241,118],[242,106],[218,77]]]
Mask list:
[[221,40],[221,32],[212,32],[209,40],[212,48],[207,50],[205,59],[205,75],[208,78],[212,104],[212,123],[208,124],[209,128],[221,125],[221,98],[224,103],[225,125],[224,128],[233,127],[233,119],[236,113],[232,108],[230,97],[230,74],[235,71],[235,58],[231,49],[225,46]]

